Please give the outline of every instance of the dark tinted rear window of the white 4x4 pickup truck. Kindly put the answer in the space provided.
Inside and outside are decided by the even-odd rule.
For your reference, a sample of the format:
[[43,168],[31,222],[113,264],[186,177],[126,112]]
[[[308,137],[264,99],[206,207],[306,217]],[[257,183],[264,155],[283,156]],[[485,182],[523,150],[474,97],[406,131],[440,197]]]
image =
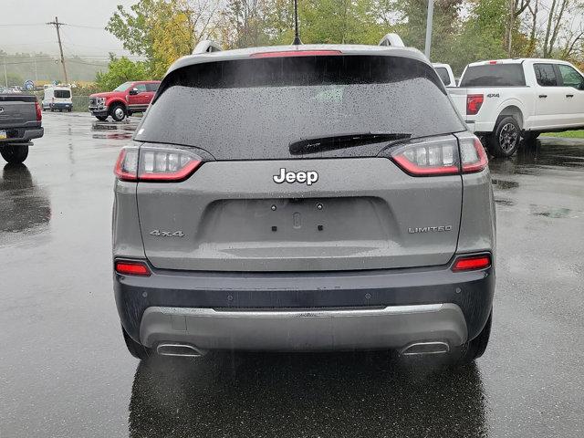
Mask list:
[[521,64],[487,64],[466,68],[460,87],[524,87]]

